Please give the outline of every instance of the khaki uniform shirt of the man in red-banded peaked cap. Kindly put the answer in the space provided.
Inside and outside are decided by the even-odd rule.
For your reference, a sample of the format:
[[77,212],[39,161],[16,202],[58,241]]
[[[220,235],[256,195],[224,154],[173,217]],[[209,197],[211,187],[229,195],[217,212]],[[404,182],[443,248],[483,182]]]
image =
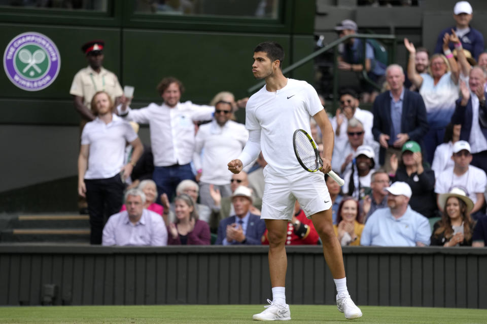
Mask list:
[[91,99],[97,91],[106,91],[114,102],[123,94],[117,75],[103,67],[96,73],[91,66],[76,73],[69,94],[83,97],[84,105],[91,110]]

